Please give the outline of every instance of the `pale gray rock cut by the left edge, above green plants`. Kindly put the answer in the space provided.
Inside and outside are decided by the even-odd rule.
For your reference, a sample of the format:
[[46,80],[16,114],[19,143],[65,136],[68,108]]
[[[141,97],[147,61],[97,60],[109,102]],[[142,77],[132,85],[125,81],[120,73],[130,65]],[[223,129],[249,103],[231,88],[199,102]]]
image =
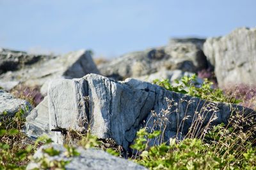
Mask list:
[[0,117],[4,112],[12,117],[20,109],[24,110],[24,116],[26,116],[31,111],[31,105],[25,100],[15,99],[12,94],[0,90]]

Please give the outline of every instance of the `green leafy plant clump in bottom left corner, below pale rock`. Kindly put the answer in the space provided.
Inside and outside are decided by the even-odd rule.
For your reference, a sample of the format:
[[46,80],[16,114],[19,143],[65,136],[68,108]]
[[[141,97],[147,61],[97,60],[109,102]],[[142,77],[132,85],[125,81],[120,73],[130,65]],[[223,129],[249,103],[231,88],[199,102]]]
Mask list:
[[4,113],[0,118],[0,169],[25,169],[28,164],[33,147],[21,132],[23,125],[24,110],[19,110],[15,117]]

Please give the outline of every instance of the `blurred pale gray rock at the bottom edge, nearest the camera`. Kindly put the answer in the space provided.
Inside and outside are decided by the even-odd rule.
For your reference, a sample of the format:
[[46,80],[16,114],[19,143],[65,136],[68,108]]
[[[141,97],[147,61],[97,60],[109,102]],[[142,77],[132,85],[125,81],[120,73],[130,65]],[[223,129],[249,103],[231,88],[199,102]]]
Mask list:
[[[55,150],[60,151],[60,155],[49,157],[48,155],[42,153],[42,149],[54,147]],[[147,169],[143,166],[140,166],[131,160],[122,159],[119,157],[115,157],[113,155],[110,155],[109,153],[106,153],[102,150],[96,150],[93,148],[89,148],[87,150],[84,150],[83,148],[79,147],[77,148],[77,152],[80,153],[77,157],[70,157],[67,158],[65,156],[66,148],[64,148],[61,145],[45,145],[41,146],[35,153],[34,158],[41,158],[45,155],[47,159],[50,161],[52,160],[70,160],[70,163],[68,163],[65,166],[65,169],[72,169],[72,170],[81,170],[81,169],[88,169],[88,170],[113,170],[113,169],[127,169],[127,170],[144,170]],[[36,164],[35,162],[30,162],[26,169],[31,170],[34,168],[39,168],[40,166]]]

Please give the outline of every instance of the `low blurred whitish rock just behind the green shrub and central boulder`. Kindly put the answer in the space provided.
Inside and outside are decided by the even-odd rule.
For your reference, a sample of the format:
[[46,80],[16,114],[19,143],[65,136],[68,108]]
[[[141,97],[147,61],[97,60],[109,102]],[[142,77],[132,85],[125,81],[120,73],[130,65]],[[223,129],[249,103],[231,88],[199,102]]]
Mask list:
[[[175,84],[175,80],[180,80],[183,76],[192,76],[195,73],[190,73],[190,72],[184,72],[179,69],[175,70],[166,70],[162,69],[160,71],[157,71],[156,73],[149,74],[147,76],[141,76],[141,77],[136,77],[136,79],[141,80],[141,81],[148,81],[152,83],[154,80],[164,80],[168,79],[172,84]],[[202,79],[197,78],[197,81],[199,83],[202,83]]]

